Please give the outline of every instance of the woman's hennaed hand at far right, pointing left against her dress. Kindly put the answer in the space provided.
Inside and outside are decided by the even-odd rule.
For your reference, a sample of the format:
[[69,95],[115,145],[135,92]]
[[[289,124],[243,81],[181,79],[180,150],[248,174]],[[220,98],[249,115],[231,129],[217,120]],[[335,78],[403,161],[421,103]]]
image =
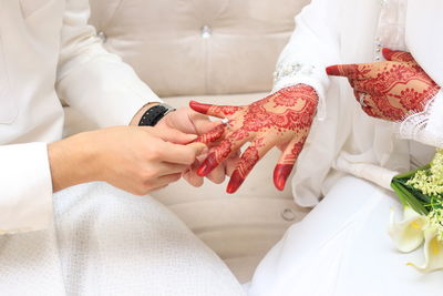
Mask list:
[[440,86],[411,53],[383,49],[383,55],[388,61],[331,65],[327,72],[349,79],[357,100],[370,116],[402,121],[423,111]]

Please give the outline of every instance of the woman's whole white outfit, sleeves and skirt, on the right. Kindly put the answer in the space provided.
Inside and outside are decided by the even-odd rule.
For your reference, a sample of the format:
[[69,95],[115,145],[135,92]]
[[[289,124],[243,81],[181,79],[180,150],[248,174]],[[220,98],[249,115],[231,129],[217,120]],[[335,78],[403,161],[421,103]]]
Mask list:
[[396,172],[429,162],[443,146],[442,92],[425,112],[383,122],[369,118],[348,81],[328,78],[324,68],[380,61],[388,47],[410,51],[442,86],[442,10],[439,0],[313,0],[296,18],[275,89],[306,83],[320,96],[292,184],[296,201],[316,207],[262,259],[250,296],[441,294],[442,272],[406,266],[421,264],[422,251],[394,248],[390,208],[402,213],[402,206],[387,188]]

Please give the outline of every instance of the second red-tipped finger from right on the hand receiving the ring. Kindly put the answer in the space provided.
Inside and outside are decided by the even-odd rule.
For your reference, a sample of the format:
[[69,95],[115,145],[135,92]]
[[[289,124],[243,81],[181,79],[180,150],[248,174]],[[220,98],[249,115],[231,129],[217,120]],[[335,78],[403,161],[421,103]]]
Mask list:
[[237,163],[228,186],[226,187],[227,193],[235,193],[258,161],[274,146],[272,143],[264,144],[262,142],[262,137],[255,140],[241,154],[240,161]]

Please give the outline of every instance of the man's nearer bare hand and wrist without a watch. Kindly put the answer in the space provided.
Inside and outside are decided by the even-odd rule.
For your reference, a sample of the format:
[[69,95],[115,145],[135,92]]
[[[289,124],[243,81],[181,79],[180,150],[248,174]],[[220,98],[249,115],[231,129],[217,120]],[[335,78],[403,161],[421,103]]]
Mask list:
[[196,161],[205,145],[184,145],[195,137],[176,130],[165,134],[154,127],[117,126],[52,143],[53,191],[104,181],[133,194],[147,194],[177,181]]

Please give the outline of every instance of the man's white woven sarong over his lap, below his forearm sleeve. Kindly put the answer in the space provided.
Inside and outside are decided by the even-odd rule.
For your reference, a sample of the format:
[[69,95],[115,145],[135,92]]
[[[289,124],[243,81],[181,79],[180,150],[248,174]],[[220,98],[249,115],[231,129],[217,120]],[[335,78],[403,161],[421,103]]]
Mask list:
[[54,208],[56,235],[0,237],[2,294],[245,295],[222,259],[150,196],[91,183],[55,194]]

